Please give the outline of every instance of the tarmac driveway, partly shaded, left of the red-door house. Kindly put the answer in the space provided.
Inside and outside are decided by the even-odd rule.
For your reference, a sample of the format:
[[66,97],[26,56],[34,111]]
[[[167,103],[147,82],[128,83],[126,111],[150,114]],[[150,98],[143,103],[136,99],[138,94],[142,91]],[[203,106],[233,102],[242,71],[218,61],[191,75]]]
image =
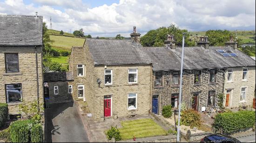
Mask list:
[[45,142],[89,142],[77,102],[52,104],[45,109]]

